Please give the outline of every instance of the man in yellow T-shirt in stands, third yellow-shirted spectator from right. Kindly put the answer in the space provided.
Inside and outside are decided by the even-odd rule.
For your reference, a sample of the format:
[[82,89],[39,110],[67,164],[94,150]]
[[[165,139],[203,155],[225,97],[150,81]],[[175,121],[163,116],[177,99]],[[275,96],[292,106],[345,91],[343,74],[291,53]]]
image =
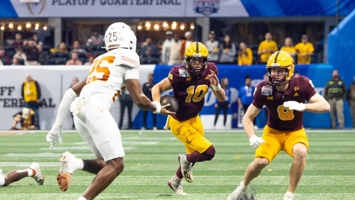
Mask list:
[[258,56],[260,56],[260,64],[266,64],[270,56],[277,52],[277,43],[272,40],[271,33],[265,34],[265,40],[259,44]]

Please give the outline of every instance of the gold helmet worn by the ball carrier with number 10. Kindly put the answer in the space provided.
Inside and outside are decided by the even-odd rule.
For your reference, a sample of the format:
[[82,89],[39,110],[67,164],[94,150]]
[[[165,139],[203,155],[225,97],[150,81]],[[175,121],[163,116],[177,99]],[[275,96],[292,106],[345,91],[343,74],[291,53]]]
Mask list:
[[193,42],[186,48],[184,58],[187,70],[199,74],[206,69],[209,53],[201,42]]

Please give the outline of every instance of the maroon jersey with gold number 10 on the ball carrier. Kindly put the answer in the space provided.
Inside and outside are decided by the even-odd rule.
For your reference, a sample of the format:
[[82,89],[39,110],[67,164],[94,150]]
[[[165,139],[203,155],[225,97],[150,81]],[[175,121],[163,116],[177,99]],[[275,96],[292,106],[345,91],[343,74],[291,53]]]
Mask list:
[[186,121],[196,117],[204,105],[204,95],[211,84],[208,75],[212,70],[218,76],[218,68],[214,63],[207,63],[206,69],[199,75],[191,74],[185,65],[174,66],[168,75],[173,86],[173,96],[178,100],[179,110],[172,117],[178,121]]

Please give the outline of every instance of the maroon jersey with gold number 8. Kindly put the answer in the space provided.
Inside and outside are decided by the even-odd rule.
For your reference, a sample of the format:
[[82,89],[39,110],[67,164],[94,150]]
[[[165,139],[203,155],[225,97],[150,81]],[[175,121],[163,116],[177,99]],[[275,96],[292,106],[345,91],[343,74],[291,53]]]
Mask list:
[[270,128],[278,131],[296,131],[303,128],[303,112],[289,110],[283,106],[284,102],[305,103],[315,94],[312,81],[305,76],[293,77],[283,94],[264,80],[255,88],[252,104],[258,109],[266,105],[269,113],[267,125]]

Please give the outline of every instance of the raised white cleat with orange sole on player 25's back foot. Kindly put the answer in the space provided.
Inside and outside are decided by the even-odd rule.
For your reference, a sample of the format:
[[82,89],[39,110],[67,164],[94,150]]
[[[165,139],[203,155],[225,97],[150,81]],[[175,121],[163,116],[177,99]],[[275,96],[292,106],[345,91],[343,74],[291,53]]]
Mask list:
[[57,182],[62,191],[67,191],[71,175],[75,170],[75,156],[69,152],[62,153],[60,156],[60,168]]

